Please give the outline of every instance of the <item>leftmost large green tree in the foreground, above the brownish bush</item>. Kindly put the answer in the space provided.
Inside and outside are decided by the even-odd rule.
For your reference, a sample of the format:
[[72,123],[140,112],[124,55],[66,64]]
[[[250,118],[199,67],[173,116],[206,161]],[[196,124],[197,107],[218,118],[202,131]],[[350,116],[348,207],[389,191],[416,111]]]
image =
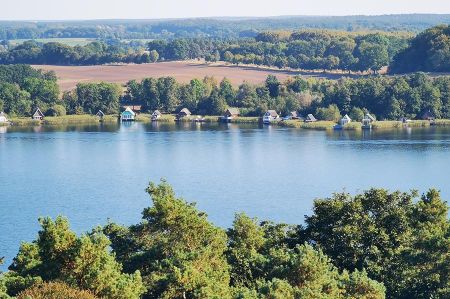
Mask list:
[[145,291],[138,271],[121,273],[121,265],[108,250],[108,239],[98,229],[78,237],[65,218],[39,222],[37,240],[21,245],[10,266],[12,274],[60,280],[100,297],[139,298]]

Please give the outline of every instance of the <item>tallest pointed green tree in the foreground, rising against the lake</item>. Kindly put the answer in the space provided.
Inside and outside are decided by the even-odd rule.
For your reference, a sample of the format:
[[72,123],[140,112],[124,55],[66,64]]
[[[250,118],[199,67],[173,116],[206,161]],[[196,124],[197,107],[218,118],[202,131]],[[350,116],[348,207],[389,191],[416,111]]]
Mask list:
[[[209,223],[193,204],[176,198],[165,181],[151,183],[147,192],[153,206],[144,210],[144,221],[131,228],[135,247],[126,261],[128,267],[142,271],[147,296],[228,298],[225,232]],[[114,251],[122,246],[116,240]]]

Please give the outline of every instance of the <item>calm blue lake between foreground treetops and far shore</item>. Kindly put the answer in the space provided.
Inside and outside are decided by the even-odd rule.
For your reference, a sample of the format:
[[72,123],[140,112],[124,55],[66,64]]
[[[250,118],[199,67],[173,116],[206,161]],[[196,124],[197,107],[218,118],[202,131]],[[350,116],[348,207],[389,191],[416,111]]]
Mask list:
[[[369,187],[450,196],[450,129],[332,132],[235,124],[0,127],[0,256],[36,237],[39,216],[77,232],[140,220],[166,178],[228,227],[236,212],[299,224],[313,200]],[[5,269],[3,266],[2,269]]]

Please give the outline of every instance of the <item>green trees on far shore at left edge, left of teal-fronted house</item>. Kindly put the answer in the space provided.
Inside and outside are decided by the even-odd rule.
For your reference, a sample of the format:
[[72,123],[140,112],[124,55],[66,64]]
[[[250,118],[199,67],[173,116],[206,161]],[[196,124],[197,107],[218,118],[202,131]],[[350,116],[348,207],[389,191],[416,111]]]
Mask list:
[[30,116],[39,107],[49,116],[107,114],[119,111],[120,86],[112,83],[80,83],[60,97],[56,76],[28,65],[0,66],[0,111],[10,116]]

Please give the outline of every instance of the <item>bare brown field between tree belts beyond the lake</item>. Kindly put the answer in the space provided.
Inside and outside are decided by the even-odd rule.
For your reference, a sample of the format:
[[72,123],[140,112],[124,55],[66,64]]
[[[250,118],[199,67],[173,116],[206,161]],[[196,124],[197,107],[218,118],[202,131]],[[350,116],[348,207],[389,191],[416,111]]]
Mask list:
[[173,76],[180,82],[189,82],[193,78],[213,76],[217,80],[227,77],[235,85],[243,81],[261,83],[267,75],[276,75],[280,80],[289,76],[303,75],[308,77],[326,77],[337,79],[348,74],[293,72],[258,68],[253,66],[233,66],[223,63],[205,64],[202,62],[160,62],[152,64],[119,64],[119,65],[94,65],[94,66],[54,66],[35,65],[35,68],[53,70],[58,76],[58,82],[62,90],[74,88],[81,82],[114,82],[124,84],[130,80],[141,80],[147,77]]

